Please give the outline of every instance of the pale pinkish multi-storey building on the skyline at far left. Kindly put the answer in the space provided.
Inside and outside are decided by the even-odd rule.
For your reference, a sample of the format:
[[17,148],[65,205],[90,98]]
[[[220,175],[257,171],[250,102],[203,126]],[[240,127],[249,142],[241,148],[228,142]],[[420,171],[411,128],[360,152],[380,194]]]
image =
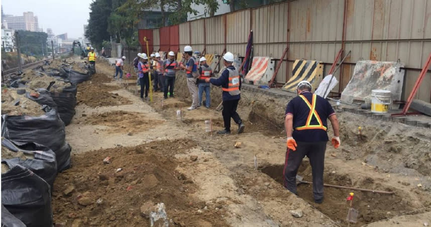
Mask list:
[[23,16],[4,15],[4,22],[8,29],[26,30],[31,32],[39,32],[39,20],[34,16],[33,12],[24,12]]

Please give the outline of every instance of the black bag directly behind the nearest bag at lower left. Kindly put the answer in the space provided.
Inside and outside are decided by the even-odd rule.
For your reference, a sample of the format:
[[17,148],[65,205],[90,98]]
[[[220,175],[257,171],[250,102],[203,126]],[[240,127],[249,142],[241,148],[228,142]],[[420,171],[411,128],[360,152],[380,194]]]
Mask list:
[[44,179],[52,188],[57,176],[57,161],[55,153],[51,149],[33,142],[20,143],[8,139],[2,140],[2,147],[6,147],[13,152],[23,152],[24,154],[33,156],[27,159],[24,157],[25,160],[18,157],[3,159],[3,151],[2,163],[6,163],[9,168],[15,165],[24,166]]

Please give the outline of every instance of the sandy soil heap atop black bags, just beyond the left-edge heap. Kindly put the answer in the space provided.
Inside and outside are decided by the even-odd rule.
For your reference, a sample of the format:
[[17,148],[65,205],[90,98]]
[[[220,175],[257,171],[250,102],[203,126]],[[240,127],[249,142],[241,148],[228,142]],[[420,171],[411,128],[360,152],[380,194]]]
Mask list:
[[70,86],[70,83],[64,82],[61,79],[48,76],[42,72],[29,71],[24,74],[24,77],[21,79],[23,81],[27,81],[27,85],[32,89],[37,88],[48,88],[51,82],[55,82],[49,91],[51,92],[62,92],[63,88]]

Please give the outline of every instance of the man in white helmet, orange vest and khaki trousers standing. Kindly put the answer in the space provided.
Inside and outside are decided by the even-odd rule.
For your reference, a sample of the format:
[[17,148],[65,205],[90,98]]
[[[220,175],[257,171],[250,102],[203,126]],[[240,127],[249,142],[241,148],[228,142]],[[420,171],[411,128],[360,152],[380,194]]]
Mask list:
[[192,103],[187,110],[199,108],[199,97],[197,95],[197,84],[196,79],[199,77],[197,71],[197,60],[192,56],[193,50],[190,46],[184,47],[184,58],[186,60],[186,66],[180,65],[180,68],[185,69],[187,74],[187,87],[191,94]]

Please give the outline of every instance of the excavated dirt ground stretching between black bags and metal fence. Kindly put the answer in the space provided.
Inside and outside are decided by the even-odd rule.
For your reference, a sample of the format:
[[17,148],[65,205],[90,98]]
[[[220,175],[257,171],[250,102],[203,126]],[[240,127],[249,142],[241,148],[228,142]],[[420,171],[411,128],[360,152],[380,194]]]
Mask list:
[[[136,78],[120,84],[110,79],[110,70],[111,67],[100,62],[98,74],[78,86],[76,115],[66,127],[67,141],[73,148],[73,166],[58,175],[54,186],[56,223],[149,226],[145,204],[163,202],[173,226],[347,226],[345,198],[349,190],[326,188],[325,202],[315,204],[310,185],[300,184],[296,196],[280,184],[285,135],[279,124],[265,120],[262,115],[265,111],[270,115],[282,109],[277,103],[285,100],[271,102],[265,107],[267,110],[254,111],[253,106],[259,106],[267,97],[245,91],[239,109],[247,122],[245,133],[209,135],[205,133],[204,121],[211,120],[213,130],[222,129],[221,112],[215,111],[215,107],[185,110],[190,103],[180,79],[175,98],[164,100],[161,93],[155,93],[150,103],[139,99]],[[213,89],[212,105],[216,106],[220,93],[216,95],[214,90],[220,91]],[[177,110],[181,110],[180,117]],[[411,172],[393,173],[390,165],[383,169],[370,165],[389,158],[375,155],[374,159],[364,160],[364,153],[371,151],[352,150],[358,143],[354,121],[367,125],[365,129],[369,131],[364,132],[367,141],[361,143],[374,143],[375,150],[386,149],[384,141],[390,134],[380,132],[376,140],[379,131],[372,127],[372,122],[367,123],[362,116],[339,115],[342,131],[347,132],[342,137],[345,146],[344,150],[328,146],[325,182],[395,192],[380,195],[355,191],[355,208],[360,210],[360,216],[358,223],[351,226],[431,204],[431,179],[423,172],[428,171],[426,168],[418,168],[423,174],[412,168]],[[419,132],[412,128],[408,128],[410,134]],[[397,130],[400,129],[392,129],[391,134],[396,135]],[[403,137],[409,143],[405,146],[419,144],[421,154],[426,154],[423,149],[429,146],[429,134],[423,135],[416,142]],[[236,142],[242,146],[235,148]],[[393,147],[402,145],[391,143]],[[399,149],[404,149],[403,146]],[[397,153],[389,155],[395,161],[402,158]],[[254,169],[255,156],[258,170]],[[110,164],[103,164],[105,157],[111,157]],[[416,163],[420,165],[422,161]],[[122,170],[116,172],[119,168]],[[310,173],[305,159],[300,174],[310,181]],[[295,209],[300,209],[303,216],[293,217],[289,211]],[[420,221],[430,219],[429,214],[426,209],[413,213]]]

